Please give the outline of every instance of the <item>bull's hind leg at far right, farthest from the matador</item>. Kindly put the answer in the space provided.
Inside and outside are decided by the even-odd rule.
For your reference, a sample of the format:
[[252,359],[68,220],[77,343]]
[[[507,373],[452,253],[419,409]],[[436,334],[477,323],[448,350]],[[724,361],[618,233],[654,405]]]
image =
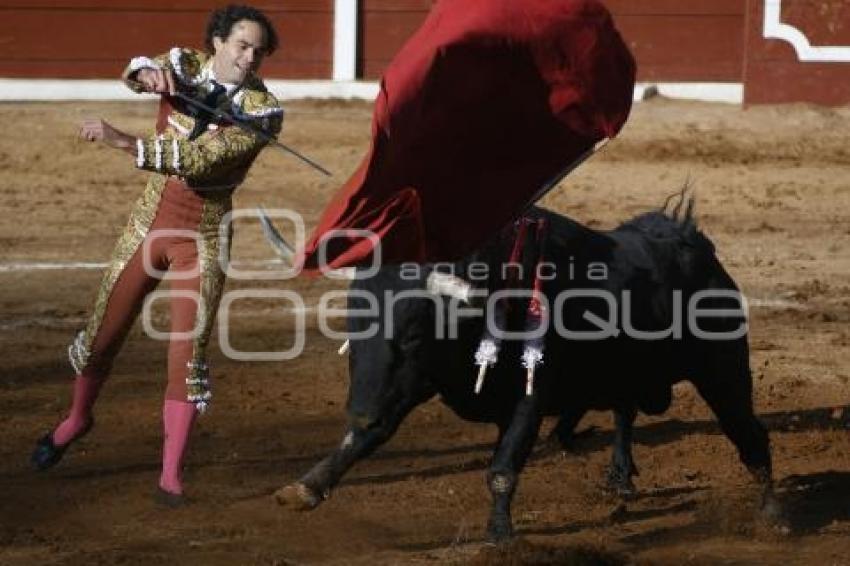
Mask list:
[[745,376],[736,376],[734,380],[701,379],[695,385],[717,417],[723,433],[738,449],[741,462],[762,486],[765,515],[781,519],[781,509],[773,494],[770,442],[767,430],[753,412],[749,369]]

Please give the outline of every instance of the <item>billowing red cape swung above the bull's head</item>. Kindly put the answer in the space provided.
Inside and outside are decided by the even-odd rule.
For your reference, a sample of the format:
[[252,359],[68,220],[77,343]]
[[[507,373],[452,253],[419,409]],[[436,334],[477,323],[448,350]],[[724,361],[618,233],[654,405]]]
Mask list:
[[[458,259],[628,117],[635,63],[596,0],[440,0],[381,80],[372,145],[300,256],[309,273]],[[320,253],[324,248],[324,254]]]

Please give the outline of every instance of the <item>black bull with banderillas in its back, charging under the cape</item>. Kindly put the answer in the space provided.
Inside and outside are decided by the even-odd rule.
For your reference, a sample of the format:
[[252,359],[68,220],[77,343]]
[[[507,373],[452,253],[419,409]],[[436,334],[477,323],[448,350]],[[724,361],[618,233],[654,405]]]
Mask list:
[[[772,502],[768,436],[753,413],[746,320],[736,298],[738,288],[712,243],[694,225],[690,203],[687,208],[682,218],[676,218],[678,210],[672,215],[650,212],[609,232],[591,230],[551,212],[533,211],[533,217],[548,223],[545,259],[558,269],[543,290],[550,306],[560,307],[553,313],[562,317],[560,328],[599,331],[605,326],[600,320],[616,320],[619,333],[576,340],[550,324],[545,359],[537,369],[531,395],[526,394],[519,340],[503,343],[483,390],[474,392],[478,374],[474,353],[485,319],[462,316],[453,323],[448,310],[457,301],[432,300],[417,292],[425,287],[427,269],[416,276],[409,266],[385,266],[373,277],[355,280],[348,308],[360,316],[348,318],[352,339],[347,431],[336,450],[276,493],[278,502],[301,509],[317,506],[355,462],[395,433],[414,407],[439,394],[460,417],[498,426],[487,471],[493,497],[487,534],[500,540],[512,534],[511,499],[544,416],[563,416],[559,424],[563,434],[588,409],[614,410],[618,417],[614,475],[630,483],[628,443],[636,410],[665,411],[672,384],[685,378],[696,386],[741,461],[764,486],[765,502]],[[486,262],[490,277],[484,287],[492,293],[504,287],[501,275],[511,270],[503,265],[502,247],[495,243],[455,267],[461,275],[471,276],[473,264],[480,268]],[[526,258],[524,263],[529,261],[533,268],[533,259]],[[556,303],[558,293],[565,290],[604,292],[615,299],[614,310],[627,304],[629,312],[615,317],[611,303],[586,293]],[[709,296],[691,301],[706,291],[711,292]],[[371,302],[367,294],[374,297]],[[678,311],[677,301],[682,306]],[[377,316],[363,316],[375,304],[373,315]],[[508,328],[522,328],[525,304],[514,301]],[[695,309],[705,316],[692,323],[688,315]],[[587,313],[598,318],[588,319]],[[635,332],[672,332],[677,318],[680,336],[668,333],[648,339]],[[453,324],[456,337],[443,338]],[[378,329],[374,336],[357,338],[370,327]]]

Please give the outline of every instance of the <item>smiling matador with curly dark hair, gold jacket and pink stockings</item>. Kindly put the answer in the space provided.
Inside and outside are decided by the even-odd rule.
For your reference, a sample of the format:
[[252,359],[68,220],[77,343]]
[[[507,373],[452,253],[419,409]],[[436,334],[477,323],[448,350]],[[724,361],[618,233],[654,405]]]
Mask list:
[[259,10],[216,10],[207,25],[205,51],[175,47],[157,57],[135,57],[125,69],[122,78],[129,88],[161,95],[155,132],[136,137],[100,119],[83,122],[83,139],[129,153],[136,167],[151,175],[115,246],[88,324],[68,349],[76,374],[70,412],[38,441],[32,455],[37,469],[57,464],[91,429],[92,409],[112,362],[146,296],[168,272],[171,334],[156,493],[169,506],[185,501],[186,447],[196,414],[211,398],[206,348],[232,236],[222,221],[234,189],[269,137],[217,120],[170,94],[191,93],[274,137],[283,111],[256,72],[277,43],[274,27]]

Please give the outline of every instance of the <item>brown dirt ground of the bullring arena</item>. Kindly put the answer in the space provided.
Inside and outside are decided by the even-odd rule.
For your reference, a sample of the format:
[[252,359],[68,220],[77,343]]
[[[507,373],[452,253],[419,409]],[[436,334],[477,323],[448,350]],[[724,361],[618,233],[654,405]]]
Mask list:
[[[100,277],[56,262],[106,261],[144,181],[131,158],[75,141],[75,129],[84,116],[103,116],[141,131],[154,113],[147,103],[0,106],[14,126],[0,138],[0,563],[850,564],[850,109],[655,99],[546,200],[612,227],[693,184],[701,226],[751,300],[755,402],[789,531],[758,519],[731,444],[683,384],[666,415],[638,419],[635,500],[600,490],[611,417],[592,414],[580,428],[599,428],[574,453],[537,451],[514,504],[521,538],[500,548],[482,544],[495,429],[462,422],[437,401],[317,510],[274,504],[271,493],[343,431],[346,360],[310,310],[294,360],[238,361],[212,347],[215,400],[188,459],[190,506],[152,502],[165,347],[141,328],[92,433],[56,469],[29,469],[34,441],[66,410],[65,349]],[[237,205],[290,208],[309,228],[364,153],[369,122],[367,104],[290,104],[283,141],[335,177],[266,151]],[[256,222],[237,230],[235,259],[272,257]],[[337,287],[296,279],[228,289],[294,290],[309,307]],[[231,345],[289,348],[294,315],[280,306],[234,303]]]

